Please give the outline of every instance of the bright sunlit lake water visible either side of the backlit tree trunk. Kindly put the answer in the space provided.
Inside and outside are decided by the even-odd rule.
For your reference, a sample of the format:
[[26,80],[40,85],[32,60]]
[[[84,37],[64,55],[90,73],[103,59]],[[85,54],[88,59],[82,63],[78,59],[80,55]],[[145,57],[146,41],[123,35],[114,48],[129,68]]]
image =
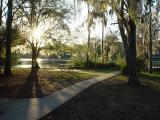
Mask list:
[[[60,60],[60,59],[38,59],[39,66],[41,68],[51,68],[56,67],[60,64],[66,64],[69,60]],[[15,67],[18,68],[31,68],[32,59],[20,59],[19,65],[16,65]]]

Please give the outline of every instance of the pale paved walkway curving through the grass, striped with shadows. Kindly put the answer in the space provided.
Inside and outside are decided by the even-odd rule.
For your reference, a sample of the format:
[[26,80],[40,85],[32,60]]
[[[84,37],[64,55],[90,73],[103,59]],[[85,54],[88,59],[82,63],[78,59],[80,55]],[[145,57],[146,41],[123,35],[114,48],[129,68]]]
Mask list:
[[5,114],[0,116],[0,120],[37,120],[67,102],[89,86],[117,74],[119,74],[119,72],[112,72],[82,81],[54,92],[44,98],[9,99],[7,101],[5,100],[5,102],[1,101],[0,111],[4,111]]

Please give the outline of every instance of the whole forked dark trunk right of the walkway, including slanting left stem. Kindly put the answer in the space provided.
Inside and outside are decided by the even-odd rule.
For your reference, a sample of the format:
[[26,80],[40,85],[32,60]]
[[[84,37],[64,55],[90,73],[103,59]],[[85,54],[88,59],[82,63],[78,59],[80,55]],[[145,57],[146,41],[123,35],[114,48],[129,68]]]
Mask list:
[[[124,21],[123,21],[124,22]],[[134,20],[130,19],[128,21],[128,28],[127,34],[125,33],[125,28],[123,22],[119,19],[118,25],[119,30],[121,33],[123,46],[125,50],[125,57],[126,57],[126,67],[127,67],[127,74],[129,76],[128,84],[129,85],[139,85],[138,75],[137,75],[137,52],[136,52],[136,25]],[[126,22],[126,21],[125,21]]]

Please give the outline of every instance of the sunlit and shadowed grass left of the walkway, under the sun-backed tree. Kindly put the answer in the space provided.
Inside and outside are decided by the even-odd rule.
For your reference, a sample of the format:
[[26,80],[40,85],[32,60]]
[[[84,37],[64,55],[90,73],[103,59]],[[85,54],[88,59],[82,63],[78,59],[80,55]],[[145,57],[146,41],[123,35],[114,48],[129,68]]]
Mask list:
[[54,71],[53,69],[40,69],[38,73],[30,74],[30,69],[13,68],[13,76],[0,82],[0,97],[44,97],[98,75],[99,73]]

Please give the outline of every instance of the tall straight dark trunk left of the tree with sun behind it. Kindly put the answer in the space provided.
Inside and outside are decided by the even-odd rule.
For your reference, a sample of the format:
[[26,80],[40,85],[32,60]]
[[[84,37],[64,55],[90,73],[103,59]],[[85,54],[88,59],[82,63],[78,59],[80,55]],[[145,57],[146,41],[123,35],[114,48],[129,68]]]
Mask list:
[[8,15],[6,21],[6,60],[4,68],[4,76],[9,77],[12,75],[11,72],[11,39],[12,39],[12,0],[8,0]]

